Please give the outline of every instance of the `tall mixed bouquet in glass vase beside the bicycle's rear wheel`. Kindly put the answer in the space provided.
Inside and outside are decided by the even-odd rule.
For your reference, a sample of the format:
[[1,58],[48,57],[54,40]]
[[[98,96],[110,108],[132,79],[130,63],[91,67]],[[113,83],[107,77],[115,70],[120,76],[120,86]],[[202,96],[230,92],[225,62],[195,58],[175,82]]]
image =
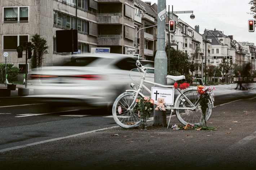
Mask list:
[[208,101],[213,94],[213,90],[215,87],[204,87],[204,86],[197,86],[198,90],[198,101],[202,109],[202,116],[200,118],[200,125],[206,125],[206,110],[208,108]]

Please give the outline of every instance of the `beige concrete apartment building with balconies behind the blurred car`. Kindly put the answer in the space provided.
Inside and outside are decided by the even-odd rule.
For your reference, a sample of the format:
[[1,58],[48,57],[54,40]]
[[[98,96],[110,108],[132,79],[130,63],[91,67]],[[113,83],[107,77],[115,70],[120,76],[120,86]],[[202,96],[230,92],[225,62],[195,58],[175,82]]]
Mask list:
[[[81,52],[110,47],[110,52],[125,54],[127,49],[135,49],[133,0],[13,0],[2,1],[1,7],[0,53],[8,52],[7,63],[18,68],[24,67],[25,56],[17,58],[17,46],[36,33],[49,46],[43,66],[58,65],[70,58],[70,53],[56,52],[57,30],[77,29]],[[4,62],[2,57],[0,63]]]

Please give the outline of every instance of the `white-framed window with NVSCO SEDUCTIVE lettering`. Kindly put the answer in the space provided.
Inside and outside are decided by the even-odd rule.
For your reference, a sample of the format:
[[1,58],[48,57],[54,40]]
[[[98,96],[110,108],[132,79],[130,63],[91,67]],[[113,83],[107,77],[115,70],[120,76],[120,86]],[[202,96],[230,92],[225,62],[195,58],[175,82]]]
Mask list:
[[28,6],[4,7],[3,23],[28,23]]

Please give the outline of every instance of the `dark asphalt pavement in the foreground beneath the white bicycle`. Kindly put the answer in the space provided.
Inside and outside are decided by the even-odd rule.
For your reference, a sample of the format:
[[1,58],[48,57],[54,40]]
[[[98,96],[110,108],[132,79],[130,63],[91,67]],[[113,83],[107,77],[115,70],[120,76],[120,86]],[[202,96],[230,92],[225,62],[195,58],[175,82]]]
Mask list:
[[[255,169],[256,98],[216,106],[217,130],[113,128],[0,153],[4,169]],[[181,125],[173,117],[171,124]],[[47,163],[46,163],[47,162]]]

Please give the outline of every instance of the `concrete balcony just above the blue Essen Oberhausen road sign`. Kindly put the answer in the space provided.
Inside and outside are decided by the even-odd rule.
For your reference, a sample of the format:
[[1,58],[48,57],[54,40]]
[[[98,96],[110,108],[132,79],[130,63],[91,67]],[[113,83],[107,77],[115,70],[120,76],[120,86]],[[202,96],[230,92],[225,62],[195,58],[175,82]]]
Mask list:
[[98,35],[98,45],[119,46],[122,45],[123,38],[120,35]]

